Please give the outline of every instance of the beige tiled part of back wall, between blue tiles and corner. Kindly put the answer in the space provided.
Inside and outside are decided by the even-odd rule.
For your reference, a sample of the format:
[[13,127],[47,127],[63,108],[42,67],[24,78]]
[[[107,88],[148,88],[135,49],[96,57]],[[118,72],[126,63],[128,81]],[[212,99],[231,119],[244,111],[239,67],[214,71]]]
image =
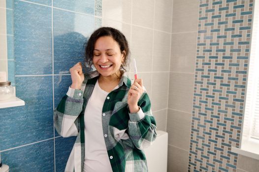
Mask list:
[[[166,131],[171,13],[172,0],[102,0],[102,26],[120,29],[126,35],[131,58],[136,59],[138,77],[143,79],[151,97],[157,129],[163,131]],[[129,70],[129,76],[134,79],[132,71]]]

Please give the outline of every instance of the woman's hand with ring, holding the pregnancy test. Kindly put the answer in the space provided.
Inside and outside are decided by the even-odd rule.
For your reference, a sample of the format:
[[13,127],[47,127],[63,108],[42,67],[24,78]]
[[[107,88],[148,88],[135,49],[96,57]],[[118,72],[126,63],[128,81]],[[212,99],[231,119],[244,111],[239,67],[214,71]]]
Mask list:
[[139,111],[137,102],[143,92],[142,79],[135,79],[129,88],[128,105],[130,113],[137,113]]

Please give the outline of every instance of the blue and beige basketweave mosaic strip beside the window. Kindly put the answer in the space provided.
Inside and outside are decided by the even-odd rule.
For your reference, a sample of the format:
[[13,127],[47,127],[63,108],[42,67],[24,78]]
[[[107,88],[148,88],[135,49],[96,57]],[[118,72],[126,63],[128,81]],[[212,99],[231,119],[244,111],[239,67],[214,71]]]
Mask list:
[[188,170],[236,172],[253,0],[199,2]]

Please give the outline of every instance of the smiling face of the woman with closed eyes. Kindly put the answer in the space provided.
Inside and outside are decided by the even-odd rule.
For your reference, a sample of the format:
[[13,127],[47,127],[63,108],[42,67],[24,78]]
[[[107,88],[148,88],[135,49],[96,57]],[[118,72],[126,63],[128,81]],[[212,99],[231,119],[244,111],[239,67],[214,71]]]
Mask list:
[[111,36],[99,37],[95,44],[93,62],[103,77],[119,76],[120,66],[124,60],[119,44]]

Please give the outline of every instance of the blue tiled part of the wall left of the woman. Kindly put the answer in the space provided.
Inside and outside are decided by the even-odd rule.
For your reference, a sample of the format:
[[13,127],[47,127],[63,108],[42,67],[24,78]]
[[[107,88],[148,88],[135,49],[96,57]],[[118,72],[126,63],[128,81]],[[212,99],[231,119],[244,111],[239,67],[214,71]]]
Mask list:
[[64,172],[75,138],[55,132],[53,109],[101,26],[101,0],[14,0],[13,10],[16,95],[25,106],[0,109],[2,162],[11,172]]

